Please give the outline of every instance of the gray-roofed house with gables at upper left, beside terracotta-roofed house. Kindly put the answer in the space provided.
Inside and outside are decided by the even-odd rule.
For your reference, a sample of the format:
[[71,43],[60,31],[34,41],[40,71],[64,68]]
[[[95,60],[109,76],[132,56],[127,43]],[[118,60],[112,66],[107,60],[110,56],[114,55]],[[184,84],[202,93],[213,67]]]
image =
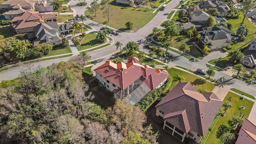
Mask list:
[[61,44],[61,38],[59,36],[60,34],[58,30],[56,30],[56,28],[52,28],[48,24],[41,22],[40,24],[35,26],[34,35],[36,36],[36,40],[32,42],[34,46],[37,46],[38,44]]

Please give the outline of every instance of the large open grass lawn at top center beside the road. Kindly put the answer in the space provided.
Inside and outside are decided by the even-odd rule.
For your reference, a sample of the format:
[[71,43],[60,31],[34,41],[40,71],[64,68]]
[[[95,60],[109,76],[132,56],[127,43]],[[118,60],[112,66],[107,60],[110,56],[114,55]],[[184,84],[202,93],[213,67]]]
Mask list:
[[[150,20],[152,20],[154,16],[156,16],[156,13],[152,13],[154,9],[145,7],[131,8],[129,6],[117,5],[114,1],[112,1],[111,4],[113,11],[112,16],[110,16],[110,22],[108,23],[108,25],[118,30],[127,30],[125,27],[125,23],[128,21],[133,22],[132,30],[139,30],[148,22],[150,22]],[[94,14],[90,14],[88,10],[86,10],[84,14],[91,20],[98,23],[102,23],[107,20],[107,18],[103,17],[102,11],[100,10],[98,11],[98,14],[96,16],[94,16]]]

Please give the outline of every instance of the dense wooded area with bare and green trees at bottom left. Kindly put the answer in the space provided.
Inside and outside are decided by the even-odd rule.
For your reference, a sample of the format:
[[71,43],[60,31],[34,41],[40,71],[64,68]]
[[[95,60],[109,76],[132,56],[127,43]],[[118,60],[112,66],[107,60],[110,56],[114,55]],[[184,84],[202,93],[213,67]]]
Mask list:
[[0,84],[0,143],[158,143],[152,127],[143,127],[146,116],[140,108],[117,100],[104,110],[92,102],[80,64],[60,62],[21,72],[18,80]]

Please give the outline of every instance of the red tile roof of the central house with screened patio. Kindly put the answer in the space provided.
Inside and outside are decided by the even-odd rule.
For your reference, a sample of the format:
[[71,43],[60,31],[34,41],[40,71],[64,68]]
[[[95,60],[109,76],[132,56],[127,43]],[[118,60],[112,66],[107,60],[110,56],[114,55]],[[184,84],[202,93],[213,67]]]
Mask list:
[[170,76],[166,70],[156,72],[157,70],[150,66],[142,66],[136,62],[132,62],[137,61],[136,58],[132,58],[130,61],[127,64],[124,62],[115,64],[114,62],[108,61],[94,71],[123,90],[139,78],[153,90]]

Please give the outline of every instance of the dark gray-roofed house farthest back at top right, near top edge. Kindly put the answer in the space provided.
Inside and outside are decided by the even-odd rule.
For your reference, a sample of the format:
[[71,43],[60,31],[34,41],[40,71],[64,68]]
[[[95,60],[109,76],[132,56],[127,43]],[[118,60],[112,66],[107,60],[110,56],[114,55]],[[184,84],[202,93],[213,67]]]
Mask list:
[[217,8],[218,12],[220,12],[219,16],[226,16],[227,12],[230,10],[228,5],[224,3],[216,3],[211,1],[197,2],[199,8],[201,9],[209,9],[209,8]]

